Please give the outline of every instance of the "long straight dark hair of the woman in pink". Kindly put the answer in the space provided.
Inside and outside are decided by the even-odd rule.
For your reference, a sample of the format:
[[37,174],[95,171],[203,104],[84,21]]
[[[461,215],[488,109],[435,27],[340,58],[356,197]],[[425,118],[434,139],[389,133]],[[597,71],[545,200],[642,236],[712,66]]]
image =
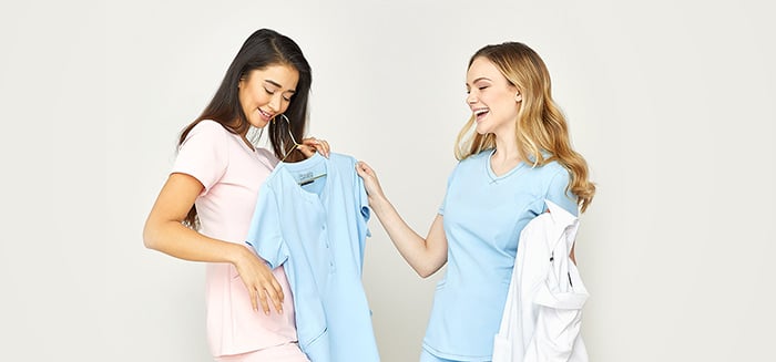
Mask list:
[[[259,29],[245,40],[232,64],[226,70],[224,80],[221,82],[221,86],[218,86],[215,95],[213,95],[213,100],[211,100],[202,114],[181,132],[178,145],[186,139],[192,128],[203,120],[218,122],[224,128],[234,134],[247,132],[251,124],[239,103],[237,85],[239,80],[247,76],[252,71],[262,70],[270,65],[288,65],[299,72],[299,80],[288,108],[283,113],[288,117],[289,122],[278,118],[269,122],[266,126],[268,128],[269,143],[275,156],[278,158],[285,157],[287,162],[304,159],[304,154],[296,147],[293,147],[294,143],[290,135],[293,134],[295,139],[302,139],[305,134],[307,101],[309,99],[310,84],[313,83],[310,65],[296,42],[270,29]],[[293,151],[286,156],[289,149]],[[196,207],[192,206],[183,224],[195,229],[198,228]]]

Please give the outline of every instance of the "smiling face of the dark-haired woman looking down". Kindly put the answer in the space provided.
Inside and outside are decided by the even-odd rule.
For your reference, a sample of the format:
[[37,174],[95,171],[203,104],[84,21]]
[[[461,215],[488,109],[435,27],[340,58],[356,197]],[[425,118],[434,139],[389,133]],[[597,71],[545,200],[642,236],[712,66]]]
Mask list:
[[238,97],[248,123],[262,128],[286,112],[298,81],[299,72],[286,64],[273,64],[245,74],[238,83]]

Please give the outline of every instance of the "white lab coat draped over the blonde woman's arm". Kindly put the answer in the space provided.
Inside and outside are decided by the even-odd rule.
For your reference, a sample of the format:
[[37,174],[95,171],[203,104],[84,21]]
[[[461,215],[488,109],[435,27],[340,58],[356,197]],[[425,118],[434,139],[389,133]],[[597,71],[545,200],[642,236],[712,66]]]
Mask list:
[[545,200],[550,213],[520,232],[493,362],[586,362],[580,334],[588,290],[569,254],[579,219]]

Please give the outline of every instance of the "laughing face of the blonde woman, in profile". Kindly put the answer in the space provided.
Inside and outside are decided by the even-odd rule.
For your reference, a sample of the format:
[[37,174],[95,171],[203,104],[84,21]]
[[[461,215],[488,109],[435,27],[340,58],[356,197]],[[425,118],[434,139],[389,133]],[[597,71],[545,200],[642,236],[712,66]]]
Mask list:
[[477,133],[513,135],[522,95],[496,65],[479,56],[469,66],[466,99],[477,122]]

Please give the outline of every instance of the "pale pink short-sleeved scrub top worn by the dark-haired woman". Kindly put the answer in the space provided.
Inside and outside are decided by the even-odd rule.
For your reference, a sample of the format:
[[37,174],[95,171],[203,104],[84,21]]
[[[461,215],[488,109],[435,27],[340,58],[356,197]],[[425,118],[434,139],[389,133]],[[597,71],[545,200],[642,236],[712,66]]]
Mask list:
[[[208,237],[244,246],[258,189],[277,164],[267,149],[251,149],[239,135],[214,121],[200,122],[178,148],[172,173],[204,185],[195,205]],[[238,354],[297,340],[294,300],[283,267],[273,270],[285,296],[283,314],[252,309],[251,297],[231,263],[208,263],[205,298],[207,341],[214,356]]]

